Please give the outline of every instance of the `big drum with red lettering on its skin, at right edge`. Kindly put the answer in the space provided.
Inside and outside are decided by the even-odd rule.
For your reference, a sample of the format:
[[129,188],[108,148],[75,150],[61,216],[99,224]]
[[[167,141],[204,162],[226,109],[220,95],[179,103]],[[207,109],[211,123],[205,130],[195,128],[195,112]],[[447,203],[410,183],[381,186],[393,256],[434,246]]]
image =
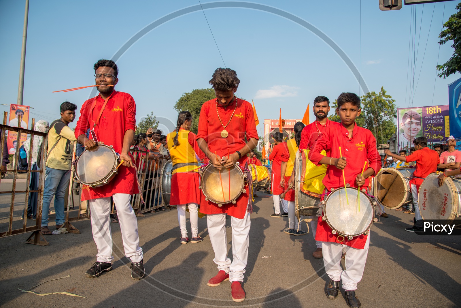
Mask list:
[[438,186],[438,174],[431,173],[423,181],[418,203],[423,219],[455,219],[461,213],[461,179],[448,177]]

